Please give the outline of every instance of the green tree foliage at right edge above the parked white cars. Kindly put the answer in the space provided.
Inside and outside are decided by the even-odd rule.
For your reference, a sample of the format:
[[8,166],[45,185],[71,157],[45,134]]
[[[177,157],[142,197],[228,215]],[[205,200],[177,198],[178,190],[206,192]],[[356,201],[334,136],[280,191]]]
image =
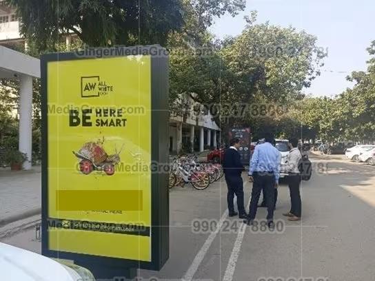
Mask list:
[[375,140],[375,41],[367,48],[372,56],[367,72],[352,72],[356,82],[335,98],[305,98],[291,115],[324,141]]

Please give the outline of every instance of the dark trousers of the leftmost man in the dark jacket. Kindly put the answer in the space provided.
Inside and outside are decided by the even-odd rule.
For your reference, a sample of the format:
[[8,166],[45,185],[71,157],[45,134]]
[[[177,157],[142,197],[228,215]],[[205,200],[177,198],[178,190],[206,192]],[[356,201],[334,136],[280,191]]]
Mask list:
[[225,176],[227,182],[228,193],[227,193],[227,204],[230,213],[234,212],[234,194],[237,196],[237,207],[239,208],[239,214],[245,214],[245,206],[243,204],[243,180],[241,175],[239,176]]

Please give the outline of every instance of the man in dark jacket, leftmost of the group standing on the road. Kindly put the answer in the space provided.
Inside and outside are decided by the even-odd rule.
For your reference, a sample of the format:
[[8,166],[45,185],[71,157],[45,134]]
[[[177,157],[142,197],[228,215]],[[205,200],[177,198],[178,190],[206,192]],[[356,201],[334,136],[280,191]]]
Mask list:
[[[232,217],[239,214],[239,218],[247,218],[243,204],[243,180],[241,177],[241,173],[245,170],[245,168],[241,163],[241,156],[237,150],[240,146],[241,145],[238,138],[233,138],[230,141],[230,148],[228,148],[224,154],[223,169],[225,181],[227,182],[228,187],[227,203],[229,216]],[[239,213],[234,211],[234,194],[237,196],[237,207],[239,209]]]

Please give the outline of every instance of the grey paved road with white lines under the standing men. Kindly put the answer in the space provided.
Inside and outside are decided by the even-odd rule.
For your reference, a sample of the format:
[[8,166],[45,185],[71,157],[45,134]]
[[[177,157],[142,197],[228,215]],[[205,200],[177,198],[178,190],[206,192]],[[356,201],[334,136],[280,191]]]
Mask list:
[[[162,280],[374,280],[375,167],[348,163],[341,156],[312,158],[314,176],[303,183],[303,221],[283,221],[289,194],[281,185],[276,233],[241,228],[241,220],[227,218],[223,182],[205,191],[173,189],[170,260],[160,272],[141,270],[139,275]],[[248,202],[249,183],[245,190]],[[265,210],[259,209],[258,218],[264,217]],[[221,231],[205,231],[205,221],[222,223]],[[39,252],[33,238],[34,232],[26,231],[5,242]]]

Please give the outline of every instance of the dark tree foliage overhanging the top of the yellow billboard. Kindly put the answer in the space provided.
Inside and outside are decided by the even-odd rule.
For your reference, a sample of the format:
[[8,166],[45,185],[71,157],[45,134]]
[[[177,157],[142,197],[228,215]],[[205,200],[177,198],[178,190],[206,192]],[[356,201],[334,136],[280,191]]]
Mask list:
[[60,36],[74,33],[90,47],[164,45],[183,25],[180,0],[7,0],[17,9],[21,34],[38,50],[54,50]]

